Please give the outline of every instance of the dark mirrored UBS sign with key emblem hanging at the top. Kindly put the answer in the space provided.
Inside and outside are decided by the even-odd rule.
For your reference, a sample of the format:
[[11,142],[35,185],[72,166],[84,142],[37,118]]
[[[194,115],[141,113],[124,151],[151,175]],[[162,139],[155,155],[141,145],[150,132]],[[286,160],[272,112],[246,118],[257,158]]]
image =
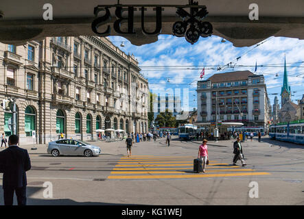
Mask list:
[[[172,34],[178,37],[185,37],[188,42],[194,44],[200,36],[208,37],[212,35],[213,27],[211,23],[202,21],[209,12],[205,5],[198,5],[198,2],[189,1],[188,5],[98,5],[94,8],[95,19],[91,25],[92,30],[97,36],[110,36],[111,21],[110,8],[115,9],[116,20],[113,23],[113,28],[120,36],[132,36],[137,34],[134,29],[135,16],[134,12],[139,8],[141,10],[141,31],[145,36],[155,36],[161,34],[162,29],[162,12],[165,8],[176,8],[176,16],[181,18],[181,21],[176,21],[172,26]],[[145,27],[145,11],[147,8],[153,8],[155,11],[155,29],[148,31]],[[189,8],[189,12],[185,9]],[[100,12],[102,16],[100,16]],[[127,16],[123,15],[127,12]],[[121,30],[121,24],[127,23],[127,27]],[[99,27],[105,26],[104,31],[99,31]]]

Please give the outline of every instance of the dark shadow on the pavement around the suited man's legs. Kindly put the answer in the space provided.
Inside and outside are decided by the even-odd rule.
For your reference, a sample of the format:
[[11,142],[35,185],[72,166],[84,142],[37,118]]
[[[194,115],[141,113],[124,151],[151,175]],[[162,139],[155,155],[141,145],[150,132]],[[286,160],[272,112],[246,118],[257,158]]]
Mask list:
[[[102,203],[102,202],[77,202],[69,198],[43,198],[43,187],[27,186],[27,205],[135,205],[120,203]],[[30,198],[33,194],[40,194],[41,198]],[[0,205],[4,205],[3,188],[0,186]],[[17,205],[16,195],[14,194],[14,203]]]

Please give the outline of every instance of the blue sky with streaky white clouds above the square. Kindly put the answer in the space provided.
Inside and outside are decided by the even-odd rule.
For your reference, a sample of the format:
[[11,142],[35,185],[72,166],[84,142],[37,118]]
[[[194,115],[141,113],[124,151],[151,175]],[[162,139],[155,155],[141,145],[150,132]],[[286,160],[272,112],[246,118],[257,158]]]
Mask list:
[[[284,57],[292,101],[296,103],[304,94],[304,40],[272,36],[251,47],[234,47],[232,42],[222,42],[218,36],[200,37],[198,42],[190,44],[185,38],[159,35],[157,42],[135,46],[120,36],[109,38],[121,51],[135,55],[152,92],[180,88],[182,110],[186,106],[183,103],[184,89],[189,90],[189,109],[197,108],[196,86],[202,68],[205,73],[203,79],[234,70],[250,70],[264,75],[271,105],[274,96],[278,96],[281,104]],[[120,47],[121,42],[125,47]]]

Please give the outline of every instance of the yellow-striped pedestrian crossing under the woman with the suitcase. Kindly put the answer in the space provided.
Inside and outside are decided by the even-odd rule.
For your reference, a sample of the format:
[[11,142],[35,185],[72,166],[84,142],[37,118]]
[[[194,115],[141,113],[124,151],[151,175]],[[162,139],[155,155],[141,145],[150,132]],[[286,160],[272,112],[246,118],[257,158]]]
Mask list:
[[270,175],[269,172],[257,172],[251,168],[232,166],[215,160],[209,161],[206,172],[196,173],[193,171],[193,159],[191,156],[123,156],[108,179],[198,179]]

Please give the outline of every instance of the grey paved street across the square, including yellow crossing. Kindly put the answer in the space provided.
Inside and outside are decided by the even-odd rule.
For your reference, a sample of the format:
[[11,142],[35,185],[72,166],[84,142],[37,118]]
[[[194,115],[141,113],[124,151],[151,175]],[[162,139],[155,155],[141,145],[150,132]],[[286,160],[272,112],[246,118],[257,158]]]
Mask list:
[[[30,153],[29,205],[303,205],[304,146],[262,138],[243,142],[246,167],[232,166],[233,140],[209,141],[204,174],[193,172],[200,142],[165,138],[140,142],[126,157],[124,142],[95,142],[99,157],[51,157],[47,145]],[[2,149],[1,149],[2,150]],[[0,175],[2,178],[2,174]],[[43,183],[53,198],[43,198]],[[258,184],[258,198],[248,195]],[[1,181],[2,185],[2,181]],[[3,190],[0,190],[3,205]]]

